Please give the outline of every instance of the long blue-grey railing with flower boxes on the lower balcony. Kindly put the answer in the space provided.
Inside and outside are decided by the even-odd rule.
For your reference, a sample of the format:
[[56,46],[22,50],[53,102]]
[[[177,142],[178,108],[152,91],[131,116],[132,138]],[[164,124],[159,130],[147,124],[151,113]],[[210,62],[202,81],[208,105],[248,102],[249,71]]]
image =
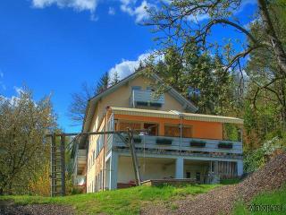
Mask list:
[[[109,142],[109,150],[114,147],[126,147],[122,139],[114,135],[114,142]],[[195,138],[179,138],[165,136],[136,136],[135,147],[146,150],[181,150],[191,152],[214,152],[228,154],[242,154],[242,142],[206,140]]]

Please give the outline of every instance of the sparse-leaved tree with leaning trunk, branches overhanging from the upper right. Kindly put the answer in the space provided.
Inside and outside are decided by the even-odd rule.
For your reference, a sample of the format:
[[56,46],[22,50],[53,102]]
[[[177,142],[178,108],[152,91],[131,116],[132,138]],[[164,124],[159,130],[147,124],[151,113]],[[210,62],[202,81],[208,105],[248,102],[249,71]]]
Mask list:
[[[225,53],[223,58],[225,70],[238,66],[241,58],[255,50],[271,49],[275,61],[281,68],[281,73],[285,75],[286,53],[281,35],[278,34],[279,25],[277,25],[281,18],[273,17],[271,11],[273,6],[285,9],[286,3],[257,0],[257,19],[263,22],[261,30],[265,38],[256,37],[236,20],[234,12],[240,9],[241,4],[241,0],[173,0],[171,3],[162,1],[161,7],[148,10],[150,19],[145,24],[154,26],[155,32],[164,32],[163,36],[160,34],[156,38],[163,47],[176,44],[183,51],[189,41],[192,41],[203,51],[217,48],[220,53]],[[201,16],[207,17],[207,21],[200,22]],[[216,25],[228,26],[244,34],[248,38],[248,43],[242,46],[245,48],[241,52],[236,52],[231,48],[231,43],[221,46],[209,39]]]

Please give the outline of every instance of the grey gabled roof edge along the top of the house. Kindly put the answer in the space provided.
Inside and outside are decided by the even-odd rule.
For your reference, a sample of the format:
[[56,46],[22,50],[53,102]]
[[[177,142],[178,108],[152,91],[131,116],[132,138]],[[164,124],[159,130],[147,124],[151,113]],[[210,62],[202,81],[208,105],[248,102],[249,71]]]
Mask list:
[[[109,95],[110,93],[114,92],[127,82],[130,82],[130,80],[136,78],[139,74],[141,74],[141,71],[137,73],[132,73],[126,78],[122,79],[121,82],[118,82],[114,84],[114,86],[108,88],[107,90],[103,91],[102,93],[97,94],[95,97],[88,99],[88,106],[86,109],[83,125],[82,125],[82,132],[87,132],[89,130],[91,121],[93,116],[95,115],[96,111],[96,106],[97,106],[97,101],[99,99],[104,98],[105,96]],[[163,80],[157,76],[155,73],[151,74],[151,78],[153,78],[155,81],[163,82]],[[196,107],[193,103],[191,103],[188,99],[185,99],[181,93],[179,93],[177,90],[174,90],[172,87],[167,91],[174,99],[178,100],[181,105],[186,109],[189,110],[190,112],[197,112],[198,107]]]

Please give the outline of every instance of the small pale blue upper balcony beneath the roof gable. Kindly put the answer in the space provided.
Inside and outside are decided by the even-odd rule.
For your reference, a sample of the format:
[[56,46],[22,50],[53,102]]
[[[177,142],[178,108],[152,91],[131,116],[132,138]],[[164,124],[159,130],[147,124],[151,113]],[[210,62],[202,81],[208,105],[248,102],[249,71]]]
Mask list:
[[130,107],[162,107],[164,95],[155,97],[152,90],[132,90]]

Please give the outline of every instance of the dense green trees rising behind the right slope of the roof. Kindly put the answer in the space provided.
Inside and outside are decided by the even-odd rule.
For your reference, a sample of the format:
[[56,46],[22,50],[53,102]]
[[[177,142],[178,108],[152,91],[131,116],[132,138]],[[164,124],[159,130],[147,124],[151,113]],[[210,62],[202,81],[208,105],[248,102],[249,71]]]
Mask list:
[[233,103],[234,80],[231,73],[222,69],[219,56],[200,52],[194,43],[186,45],[183,52],[174,46],[166,47],[162,52],[164,58],[160,61],[151,57],[147,62],[147,74],[157,73],[162,78],[162,82],[153,86],[156,94],[172,86],[194,102],[200,113],[227,113],[225,109]]

